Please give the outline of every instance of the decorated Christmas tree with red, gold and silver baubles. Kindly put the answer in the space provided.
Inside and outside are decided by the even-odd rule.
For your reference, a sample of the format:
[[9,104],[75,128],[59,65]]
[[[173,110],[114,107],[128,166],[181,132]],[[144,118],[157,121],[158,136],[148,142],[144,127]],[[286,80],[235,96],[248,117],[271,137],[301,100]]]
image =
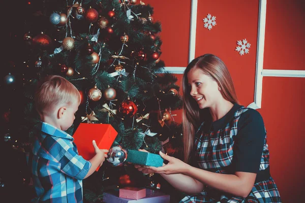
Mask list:
[[[11,99],[2,107],[7,125],[1,129],[1,144],[2,154],[12,148],[15,157],[22,157],[15,162],[22,173],[14,176],[16,172],[10,171],[21,185],[29,184],[28,170],[20,168],[26,168],[31,140],[40,130],[34,91],[46,75],[65,77],[81,94],[68,133],[81,122],[111,124],[118,132],[112,147],[127,153],[162,150],[181,158],[181,125],[171,112],[181,107],[179,87],[159,58],[161,23],[154,20],[153,7],[139,0],[24,1],[19,6],[26,8],[18,7],[24,14],[22,35],[20,28],[11,30],[15,57],[8,57],[2,73],[1,89]],[[124,157],[120,160],[105,161],[99,172],[84,180],[87,201],[101,200],[113,187],[162,185],[169,190],[158,175],[143,175]],[[0,174],[4,186],[11,177],[4,178],[6,173]]]

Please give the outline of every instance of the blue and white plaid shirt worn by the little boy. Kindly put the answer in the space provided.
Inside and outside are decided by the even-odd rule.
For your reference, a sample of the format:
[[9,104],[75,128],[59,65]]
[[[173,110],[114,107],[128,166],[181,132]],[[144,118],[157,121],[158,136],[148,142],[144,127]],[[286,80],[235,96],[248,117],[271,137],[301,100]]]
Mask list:
[[73,138],[42,123],[33,147],[32,175],[37,197],[33,202],[83,202],[82,179],[91,163],[78,155]]

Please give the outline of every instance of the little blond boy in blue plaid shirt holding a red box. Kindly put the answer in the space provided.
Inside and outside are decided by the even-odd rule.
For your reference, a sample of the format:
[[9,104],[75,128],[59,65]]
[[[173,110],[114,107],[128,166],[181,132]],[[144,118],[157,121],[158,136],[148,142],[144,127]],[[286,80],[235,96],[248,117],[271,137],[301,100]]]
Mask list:
[[92,175],[107,157],[95,141],[95,156],[78,155],[67,130],[80,104],[76,87],[60,76],[47,76],[38,84],[35,105],[42,121],[33,146],[32,175],[37,197],[34,202],[82,202],[82,179]]

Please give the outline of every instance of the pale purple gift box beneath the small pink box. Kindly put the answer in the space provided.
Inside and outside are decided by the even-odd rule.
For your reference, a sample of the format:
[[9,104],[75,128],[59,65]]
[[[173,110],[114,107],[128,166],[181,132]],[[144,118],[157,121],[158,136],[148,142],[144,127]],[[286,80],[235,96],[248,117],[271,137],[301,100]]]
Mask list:
[[103,202],[105,203],[169,203],[169,195],[164,194],[158,190],[151,190],[146,188],[146,197],[135,200],[119,197],[119,190],[105,192],[103,195]]

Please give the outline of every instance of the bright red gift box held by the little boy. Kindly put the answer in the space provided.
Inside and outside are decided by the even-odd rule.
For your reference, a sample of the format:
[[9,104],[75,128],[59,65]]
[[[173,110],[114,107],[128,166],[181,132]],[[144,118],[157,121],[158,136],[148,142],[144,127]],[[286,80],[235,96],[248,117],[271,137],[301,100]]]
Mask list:
[[[110,149],[117,136],[116,130],[110,124],[80,123],[73,134],[78,154],[84,159],[94,157],[92,141],[95,140],[100,149]],[[97,168],[98,171],[99,167]]]

